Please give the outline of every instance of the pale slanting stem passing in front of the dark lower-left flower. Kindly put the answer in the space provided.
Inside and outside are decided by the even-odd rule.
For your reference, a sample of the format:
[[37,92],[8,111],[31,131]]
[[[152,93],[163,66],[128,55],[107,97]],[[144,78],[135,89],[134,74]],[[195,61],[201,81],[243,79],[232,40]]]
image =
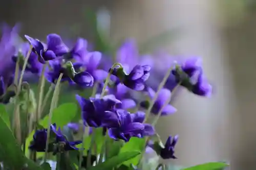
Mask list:
[[47,138],[46,138],[46,151],[45,151],[45,157],[44,157],[44,162],[46,162],[46,159],[47,159],[47,152],[48,152],[48,148],[49,148],[49,139],[50,139],[50,130],[51,130],[51,124],[52,124],[52,113],[53,113],[53,109],[55,107],[55,100],[56,98],[58,97],[57,94],[58,94],[58,88],[59,88],[59,84],[60,84],[60,80],[62,78],[63,74],[61,73],[59,75],[59,78],[56,82],[56,86],[55,86],[55,89],[54,89],[54,92],[53,92],[53,96],[52,96],[52,101],[51,101],[51,106],[50,106],[50,111],[49,111],[49,120],[48,120],[48,128],[47,128]]

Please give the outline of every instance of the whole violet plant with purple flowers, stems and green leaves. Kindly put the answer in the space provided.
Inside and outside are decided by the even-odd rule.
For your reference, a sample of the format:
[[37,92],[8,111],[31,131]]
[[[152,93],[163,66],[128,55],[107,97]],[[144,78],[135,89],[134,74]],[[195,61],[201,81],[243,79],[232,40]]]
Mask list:
[[[121,46],[118,60],[125,61],[122,56],[130,56],[124,63],[126,68],[132,68],[130,71],[122,63],[114,63],[106,70],[100,68],[102,54],[88,51],[87,41],[82,38],[69,49],[57,34],[49,34],[46,44],[25,37],[28,42],[18,45],[10,40],[5,42],[14,47],[11,53],[5,53],[11,60],[6,64],[15,65],[16,69],[9,72],[8,79],[4,71],[0,72],[2,169],[132,170],[148,169],[149,165],[152,169],[168,169],[167,164],[150,164],[147,154],[155,152],[155,159],[177,159],[178,135],[169,135],[162,144],[155,125],[160,116],[176,112],[170,99],[177,87],[210,96],[211,85],[199,59],[168,63],[164,78],[153,90],[147,80],[157,68],[133,63],[129,41]],[[0,49],[5,50],[1,46]],[[29,83],[23,81],[28,73],[39,78],[36,100],[31,97]],[[176,86],[164,88],[170,76],[175,77]],[[48,84],[50,88],[45,93]],[[76,100],[59,106],[64,93],[61,88],[74,85],[90,94],[72,91],[70,95]],[[50,108],[46,110],[48,101]],[[31,103],[36,103],[35,109]],[[14,108],[11,123],[5,109],[8,106]],[[226,166],[212,162],[183,169],[213,170]]]

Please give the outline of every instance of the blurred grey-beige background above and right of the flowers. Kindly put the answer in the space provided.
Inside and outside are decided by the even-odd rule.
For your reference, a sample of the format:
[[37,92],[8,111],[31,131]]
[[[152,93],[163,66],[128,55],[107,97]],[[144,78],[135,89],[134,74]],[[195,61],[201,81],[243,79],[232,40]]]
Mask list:
[[256,1],[0,1],[1,23],[19,22],[20,35],[37,38],[57,33],[96,42],[88,17],[94,13],[111,43],[135,38],[143,53],[161,48],[203,58],[212,98],[182,91],[178,112],[157,126],[164,140],[180,135],[173,164],[228,161],[232,170],[256,169]]

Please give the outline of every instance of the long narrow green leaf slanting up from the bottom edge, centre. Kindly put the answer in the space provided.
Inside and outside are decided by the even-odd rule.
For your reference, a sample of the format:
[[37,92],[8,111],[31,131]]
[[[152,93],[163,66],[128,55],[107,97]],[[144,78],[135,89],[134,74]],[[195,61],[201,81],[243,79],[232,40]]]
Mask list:
[[123,163],[124,161],[130,160],[136,156],[141,154],[140,152],[133,151],[133,152],[123,152],[118,154],[117,156],[112,157],[105,162],[99,163],[96,166],[89,168],[89,170],[102,170],[102,169],[112,169],[115,166]]

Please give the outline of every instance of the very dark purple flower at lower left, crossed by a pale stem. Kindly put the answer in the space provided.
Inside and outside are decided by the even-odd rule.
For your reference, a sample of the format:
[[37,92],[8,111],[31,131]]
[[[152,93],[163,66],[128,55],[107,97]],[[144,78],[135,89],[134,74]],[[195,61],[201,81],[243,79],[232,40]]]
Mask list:
[[[56,129],[56,124],[51,125],[50,131],[53,136],[50,136],[50,138],[52,137],[52,140],[50,140],[48,152],[78,150],[75,145],[80,144],[82,141],[68,141],[66,137],[61,133],[60,129]],[[29,149],[36,152],[45,152],[46,140],[47,129],[37,130],[33,135],[33,141],[31,142]],[[58,147],[56,148],[56,146]]]

